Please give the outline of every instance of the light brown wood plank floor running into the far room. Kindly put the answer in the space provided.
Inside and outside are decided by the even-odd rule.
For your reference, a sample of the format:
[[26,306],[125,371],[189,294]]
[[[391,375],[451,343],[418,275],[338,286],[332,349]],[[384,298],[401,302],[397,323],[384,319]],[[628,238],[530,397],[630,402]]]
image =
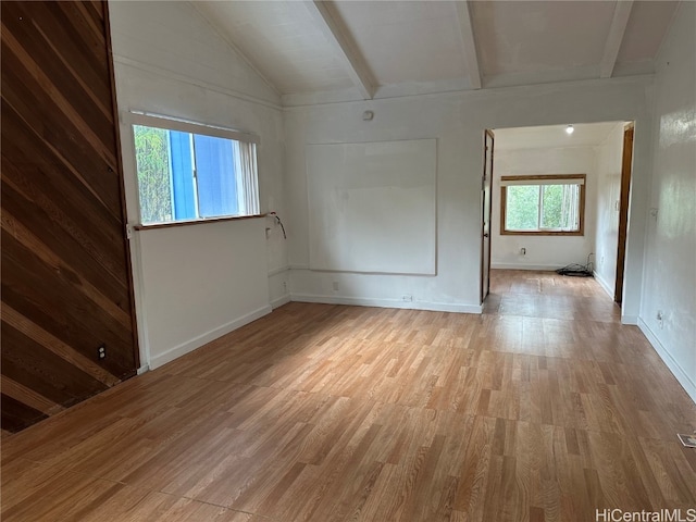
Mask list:
[[696,507],[696,407],[593,279],[290,303],[2,440],[3,521],[594,521]]

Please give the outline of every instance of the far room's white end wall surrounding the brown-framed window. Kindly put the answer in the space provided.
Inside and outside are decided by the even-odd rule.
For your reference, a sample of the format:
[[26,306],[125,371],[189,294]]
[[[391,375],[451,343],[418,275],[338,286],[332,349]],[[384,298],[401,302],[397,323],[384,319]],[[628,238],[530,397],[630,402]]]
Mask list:
[[[496,146],[501,145],[496,141]],[[494,269],[556,270],[585,264],[594,252],[597,175],[593,147],[497,149],[493,171],[490,259]],[[583,236],[500,235],[500,177],[525,174],[586,174]],[[524,248],[526,253],[521,254]]]

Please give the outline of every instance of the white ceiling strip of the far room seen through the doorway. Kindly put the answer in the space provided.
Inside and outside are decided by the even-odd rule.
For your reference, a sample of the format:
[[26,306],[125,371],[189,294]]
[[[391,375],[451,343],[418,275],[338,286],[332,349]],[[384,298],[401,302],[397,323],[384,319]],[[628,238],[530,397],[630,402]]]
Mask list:
[[559,147],[596,147],[609,133],[624,122],[574,124],[573,134],[568,125],[543,125],[537,127],[496,128],[496,150],[554,149]]

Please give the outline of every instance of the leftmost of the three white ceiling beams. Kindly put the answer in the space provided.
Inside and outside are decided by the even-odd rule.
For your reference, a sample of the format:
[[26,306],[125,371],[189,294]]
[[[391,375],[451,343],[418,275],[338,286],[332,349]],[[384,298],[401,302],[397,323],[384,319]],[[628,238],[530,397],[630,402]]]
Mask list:
[[306,3],[308,10],[321,23],[321,29],[332,46],[336,49],[346,72],[365,100],[374,98],[376,82],[372,77],[366,63],[360,55],[352,38],[348,36],[344,23],[335,14],[330,2],[314,0]]

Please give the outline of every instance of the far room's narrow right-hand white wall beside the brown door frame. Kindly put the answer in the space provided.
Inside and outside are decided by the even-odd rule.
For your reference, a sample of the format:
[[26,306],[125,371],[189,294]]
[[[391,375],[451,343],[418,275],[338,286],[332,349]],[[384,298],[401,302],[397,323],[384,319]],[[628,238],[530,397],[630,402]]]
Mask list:
[[604,142],[596,147],[597,229],[595,233],[595,278],[612,299],[617,283],[623,126],[623,123],[617,123]]

